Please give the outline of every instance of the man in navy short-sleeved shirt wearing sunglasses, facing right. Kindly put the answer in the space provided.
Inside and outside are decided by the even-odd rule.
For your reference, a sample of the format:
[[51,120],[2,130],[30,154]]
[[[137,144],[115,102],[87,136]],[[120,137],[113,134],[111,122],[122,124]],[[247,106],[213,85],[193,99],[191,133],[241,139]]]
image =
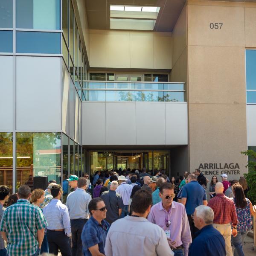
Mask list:
[[107,209],[102,198],[93,198],[89,205],[90,219],[84,225],[81,240],[84,256],[104,256],[110,224],[105,221]]

